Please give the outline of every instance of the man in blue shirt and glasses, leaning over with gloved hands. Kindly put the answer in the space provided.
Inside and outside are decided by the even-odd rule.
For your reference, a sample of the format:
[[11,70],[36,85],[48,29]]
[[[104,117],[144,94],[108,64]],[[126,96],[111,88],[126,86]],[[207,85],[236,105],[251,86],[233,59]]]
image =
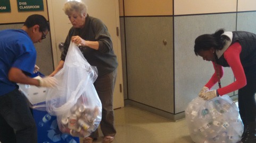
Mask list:
[[2,143],[37,142],[37,129],[29,105],[16,83],[44,87],[56,85],[56,79],[30,78],[35,68],[34,43],[49,32],[44,16],[30,15],[21,29],[0,31],[0,141]]

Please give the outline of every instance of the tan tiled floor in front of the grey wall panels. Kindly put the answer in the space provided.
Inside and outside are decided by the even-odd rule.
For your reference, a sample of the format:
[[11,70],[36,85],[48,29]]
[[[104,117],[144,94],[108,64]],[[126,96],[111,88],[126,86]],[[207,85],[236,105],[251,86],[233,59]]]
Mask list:
[[[117,135],[113,143],[192,143],[186,120],[171,122],[131,106],[114,110]],[[97,143],[102,142],[102,132]],[[82,143],[82,141],[80,141]]]

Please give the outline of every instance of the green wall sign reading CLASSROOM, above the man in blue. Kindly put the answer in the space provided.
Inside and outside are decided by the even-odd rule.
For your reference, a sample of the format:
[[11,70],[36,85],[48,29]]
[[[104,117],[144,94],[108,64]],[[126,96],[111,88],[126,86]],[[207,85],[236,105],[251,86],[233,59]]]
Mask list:
[[17,0],[17,5],[19,12],[44,10],[43,0]]

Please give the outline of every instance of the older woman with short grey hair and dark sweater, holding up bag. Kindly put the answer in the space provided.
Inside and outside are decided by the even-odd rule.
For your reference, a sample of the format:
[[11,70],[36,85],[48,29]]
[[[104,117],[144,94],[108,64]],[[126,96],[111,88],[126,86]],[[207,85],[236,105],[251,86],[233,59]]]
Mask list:
[[[73,26],[65,39],[59,65],[50,76],[54,76],[63,68],[70,41],[78,44],[89,64],[97,67],[98,77],[94,86],[102,103],[100,126],[104,135],[103,142],[112,142],[116,133],[113,92],[118,62],[113,51],[110,33],[101,20],[87,14],[87,6],[82,2],[69,1],[64,4],[63,10]],[[98,131],[96,130],[84,139],[84,143],[93,142],[97,137]]]

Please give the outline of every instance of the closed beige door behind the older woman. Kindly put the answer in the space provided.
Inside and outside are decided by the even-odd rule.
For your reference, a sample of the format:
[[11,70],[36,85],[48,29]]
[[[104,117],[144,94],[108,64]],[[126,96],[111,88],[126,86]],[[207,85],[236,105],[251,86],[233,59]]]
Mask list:
[[[61,51],[59,50],[59,43],[64,42],[68,35],[72,24],[68,16],[62,10],[64,3],[67,0],[47,0],[49,24],[51,27],[51,40],[53,49],[54,67],[59,64]],[[118,59],[118,77],[114,89],[113,108],[121,108],[123,103],[123,87],[122,87],[122,62],[121,62],[121,43],[119,30],[119,9],[118,0],[82,0],[87,5],[87,13],[90,16],[101,19],[111,34],[113,49]]]

